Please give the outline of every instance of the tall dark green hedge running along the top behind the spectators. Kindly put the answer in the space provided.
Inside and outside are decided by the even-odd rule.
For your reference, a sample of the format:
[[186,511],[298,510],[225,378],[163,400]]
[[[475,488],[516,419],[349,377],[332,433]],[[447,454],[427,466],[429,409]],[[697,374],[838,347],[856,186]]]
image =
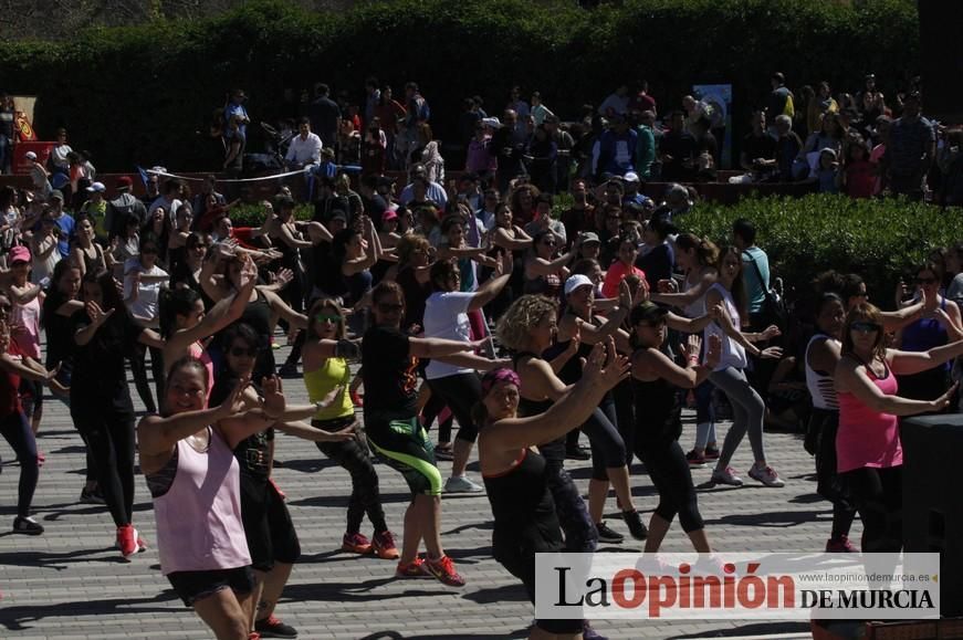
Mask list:
[[728,82],[736,113],[747,113],[775,70],[793,87],[825,78],[850,90],[875,71],[892,95],[917,72],[918,29],[914,0],[626,0],[593,11],[574,0],[394,0],[339,12],[254,0],[65,42],[0,34],[0,78],[10,93],[40,96],[38,129],[66,126],[101,170],[206,170],[221,151],[202,134],[232,86],[248,91],[255,120],[272,122],[285,88],[299,95],[322,81],[359,101],[369,74],[396,93],[415,80],[444,139],[462,98],[481,94],[500,115],[513,84],[567,117],[641,77],[663,112],[692,83]]

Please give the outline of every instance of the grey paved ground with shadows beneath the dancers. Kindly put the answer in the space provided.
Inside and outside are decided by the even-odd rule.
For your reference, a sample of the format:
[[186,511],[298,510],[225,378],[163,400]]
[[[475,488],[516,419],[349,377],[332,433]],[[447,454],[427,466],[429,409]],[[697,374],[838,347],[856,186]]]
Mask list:
[[[284,353],[284,352],[282,352]],[[296,380],[285,385],[294,401],[306,399]],[[132,386],[133,392],[133,386]],[[134,392],[136,397],[136,392]],[[139,400],[135,399],[139,407]],[[692,416],[682,439],[692,440]],[[720,433],[720,441],[722,436]],[[40,537],[6,533],[15,514],[19,469],[7,461],[0,475],[0,638],[207,638],[206,628],[170,590],[155,550],[124,563],[114,550],[114,528],[104,507],[76,503],[83,484],[84,457],[67,410],[45,403],[39,440],[46,453],[34,499],[36,517],[46,527]],[[813,462],[797,436],[771,433],[767,454],[786,480],[782,490],[751,483],[742,489],[704,490],[700,506],[713,546],[719,550],[821,550],[829,526],[829,505],[815,494]],[[344,527],[349,479],[313,444],[280,436],[275,479],[287,493],[303,557],[295,567],[278,615],[294,625],[302,639],[465,639],[522,638],[532,607],[520,585],[491,557],[491,512],[483,496],[446,499],[443,543],[456,558],[468,586],[450,589],[433,580],[392,579],[394,564],[357,558],[338,550]],[[745,441],[734,465],[745,471]],[[450,463],[440,463],[447,478]],[[587,489],[585,463],[571,465],[576,482]],[[470,466],[478,476],[475,465]],[[400,533],[408,501],[400,476],[378,465],[389,526]],[[648,478],[637,469],[634,492],[640,510],[651,512],[656,499]],[[694,471],[697,483],[709,470]],[[615,510],[614,499],[610,506]],[[154,539],[150,500],[137,479],[135,525]],[[620,522],[615,528],[626,533]],[[859,539],[858,523],[854,538]],[[608,548],[639,550],[637,543]],[[667,552],[691,547],[678,525],[669,534]],[[684,621],[597,621],[610,638],[691,638],[773,634],[808,637],[799,623],[732,623]]]

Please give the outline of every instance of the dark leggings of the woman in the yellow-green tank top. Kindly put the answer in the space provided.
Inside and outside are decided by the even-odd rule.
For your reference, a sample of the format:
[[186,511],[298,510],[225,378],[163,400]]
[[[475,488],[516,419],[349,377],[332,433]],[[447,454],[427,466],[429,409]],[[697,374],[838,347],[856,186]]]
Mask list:
[[[312,420],[312,426],[325,431],[341,431],[355,421],[354,416],[335,418],[333,420]],[[352,476],[352,495],[348,499],[347,533],[355,534],[362,529],[362,520],[368,514],[375,533],[388,531],[385,523],[385,510],[381,506],[381,494],[378,490],[378,474],[371,463],[368,450],[358,440],[345,442],[315,442],[322,453],[342,465]]]

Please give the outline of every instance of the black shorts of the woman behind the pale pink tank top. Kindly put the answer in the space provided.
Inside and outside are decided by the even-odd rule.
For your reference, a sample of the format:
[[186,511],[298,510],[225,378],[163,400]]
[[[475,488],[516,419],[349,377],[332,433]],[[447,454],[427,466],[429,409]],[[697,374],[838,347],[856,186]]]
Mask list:
[[270,571],[275,562],[294,564],[301,556],[294,523],[274,483],[241,474],[241,521],[252,568]]

